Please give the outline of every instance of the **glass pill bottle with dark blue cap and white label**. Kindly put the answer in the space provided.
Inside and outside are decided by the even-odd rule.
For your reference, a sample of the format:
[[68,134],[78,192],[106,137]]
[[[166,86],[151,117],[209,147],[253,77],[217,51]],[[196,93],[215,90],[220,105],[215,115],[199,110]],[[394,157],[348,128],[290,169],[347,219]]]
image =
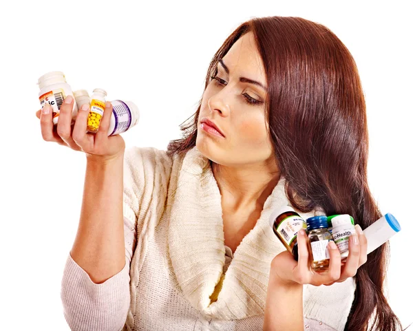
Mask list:
[[310,243],[311,267],[315,271],[326,270],[330,265],[328,242],[334,241],[328,231],[327,216],[314,216],[306,220],[308,242]]

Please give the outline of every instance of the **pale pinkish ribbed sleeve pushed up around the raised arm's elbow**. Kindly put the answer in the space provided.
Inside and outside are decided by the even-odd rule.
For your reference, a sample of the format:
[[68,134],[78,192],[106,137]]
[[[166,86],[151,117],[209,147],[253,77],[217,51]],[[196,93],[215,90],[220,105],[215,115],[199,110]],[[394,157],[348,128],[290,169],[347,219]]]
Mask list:
[[134,223],[123,217],[125,266],[102,284],[95,284],[85,270],[67,256],[61,284],[63,314],[71,330],[121,330],[129,310],[129,268],[136,231]]

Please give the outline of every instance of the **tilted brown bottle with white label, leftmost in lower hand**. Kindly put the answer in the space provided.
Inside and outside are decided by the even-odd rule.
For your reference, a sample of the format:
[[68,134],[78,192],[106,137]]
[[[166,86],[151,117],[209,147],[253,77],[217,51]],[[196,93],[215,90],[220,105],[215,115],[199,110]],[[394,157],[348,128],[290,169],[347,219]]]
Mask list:
[[271,213],[269,223],[275,235],[298,261],[297,233],[306,229],[306,221],[290,206],[282,206]]

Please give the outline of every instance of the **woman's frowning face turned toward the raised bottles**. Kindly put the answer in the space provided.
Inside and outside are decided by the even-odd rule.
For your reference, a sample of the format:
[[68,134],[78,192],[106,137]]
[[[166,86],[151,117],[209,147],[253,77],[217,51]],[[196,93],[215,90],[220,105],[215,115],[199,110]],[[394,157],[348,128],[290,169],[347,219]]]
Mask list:
[[[253,33],[238,39],[222,62],[229,73],[218,63],[218,73],[215,79],[209,78],[202,96],[197,123],[198,150],[213,162],[231,167],[275,158],[266,129],[266,75]],[[264,88],[243,78],[257,81]],[[213,121],[224,136],[205,131],[202,124],[205,118]]]

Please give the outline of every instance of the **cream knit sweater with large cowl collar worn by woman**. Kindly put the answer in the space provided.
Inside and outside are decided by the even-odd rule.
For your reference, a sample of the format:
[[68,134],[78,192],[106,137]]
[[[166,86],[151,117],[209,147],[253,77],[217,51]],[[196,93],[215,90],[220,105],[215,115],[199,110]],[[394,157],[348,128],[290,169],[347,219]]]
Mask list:
[[[231,259],[218,184],[196,147],[172,157],[132,147],[124,164],[125,268],[94,284],[68,256],[61,299],[72,330],[262,330],[271,261],[286,250],[268,225],[288,204],[284,178]],[[343,330],[355,286],[304,285],[306,330]]]

